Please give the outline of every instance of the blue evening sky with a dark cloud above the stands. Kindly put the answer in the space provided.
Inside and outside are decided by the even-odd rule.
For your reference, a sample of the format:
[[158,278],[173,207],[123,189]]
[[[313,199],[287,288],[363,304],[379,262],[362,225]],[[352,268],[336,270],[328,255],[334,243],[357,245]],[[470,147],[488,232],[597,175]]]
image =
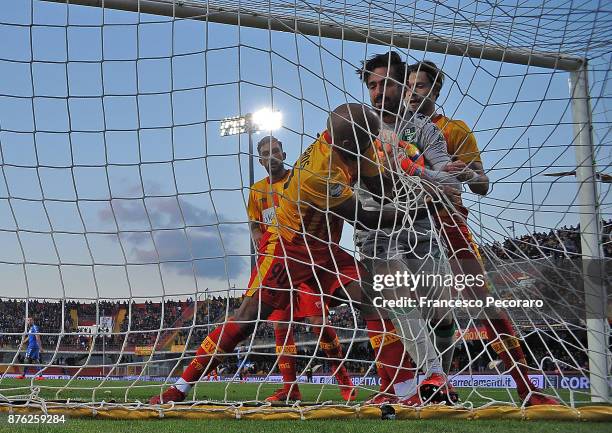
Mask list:
[[[367,102],[355,69],[389,49],[38,0],[0,7],[0,40],[1,297],[239,293],[248,140],[220,137],[220,120],[280,110],[291,165],[331,109]],[[492,189],[464,201],[480,243],[578,222],[575,179],[542,176],[576,166],[568,73],[401,53],[443,68],[440,111],[476,135]],[[601,171],[609,61],[591,75]],[[606,185],[600,202],[609,218]]]

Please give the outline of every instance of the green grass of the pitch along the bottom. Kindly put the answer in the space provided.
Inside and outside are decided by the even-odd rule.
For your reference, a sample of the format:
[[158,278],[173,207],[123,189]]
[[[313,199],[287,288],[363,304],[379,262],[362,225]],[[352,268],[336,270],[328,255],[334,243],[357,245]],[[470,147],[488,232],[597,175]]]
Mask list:
[[[39,397],[44,399],[76,399],[92,401],[92,389],[101,385],[100,381],[75,380],[70,383],[69,388],[57,391],[67,385],[66,380],[44,380],[33,382],[40,389]],[[5,379],[0,382],[0,394],[4,396],[27,395],[30,393],[31,381]],[[130,387],[130,385],[132,385]],[[245,401],[263,400],[278,385],[255,384],[255,383],[203,383],[196,389],[198,400],[228,400]],[[305,401],[336,401],[341,402],[340,393],[336,386],[327,385],[300,385]],[[98,388],[95,400],[146,401],[159,392],[160,384],[152,382],[106,382]],[[373,390],[372,390],[373,391]],[[497,401],[510,401],[509,394],[499,389],[479,389],[478,393],[468,389],[460,389],[459,393],[463,401],[469,399],[474,406],[480,406],[490,399]],[[127,393],[127,394],[126,394]],[[259,394],[258,394],[259,393]],[[362,401],[369,395],[369,390],[361,389],[358,400]],[[190,396],[193,398],[193,394]],[[512,397],[516,399],[514,392]],[[567,398],[567,393],[562,394]],[[585,402],[586,403],[586,402]],[[477,433],[500,433],[500,432],[610,432],[612,423],[586,423],[586,422],[553,422],[553,421],[461,421],[461,420],[418,420],[418,421],[382,421],[382,420],[310,420],[310,421],[252,421],[252,420],[145,420],[145,421],[122,421],[102,420],[90,418],[67,417],[65,424],[45,425],[15,425],[9,424],[7,415],[0,415],[0,432],[151,432],[155,433],[252,433],[252,432],[281,432],[281,433],[327,433],[327,432],[350,432],[350,433],[383,433],[398,431],[415,431],[418,433],[429,432],[477,432]]]

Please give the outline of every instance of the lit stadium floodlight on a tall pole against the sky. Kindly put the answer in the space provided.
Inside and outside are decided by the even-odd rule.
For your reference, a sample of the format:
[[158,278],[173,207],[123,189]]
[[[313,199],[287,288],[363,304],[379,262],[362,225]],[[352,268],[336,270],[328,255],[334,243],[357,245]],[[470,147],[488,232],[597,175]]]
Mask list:
[[[221,137],[247,133],[249,135],[249,187],[255,183],[253,134],[272,132],[282,126],[283,114],[270,108],[262,108],[244,116],[225,117],[221,120],[219,133]],[[251,243],[251,267],[255,267],[255,246]]]

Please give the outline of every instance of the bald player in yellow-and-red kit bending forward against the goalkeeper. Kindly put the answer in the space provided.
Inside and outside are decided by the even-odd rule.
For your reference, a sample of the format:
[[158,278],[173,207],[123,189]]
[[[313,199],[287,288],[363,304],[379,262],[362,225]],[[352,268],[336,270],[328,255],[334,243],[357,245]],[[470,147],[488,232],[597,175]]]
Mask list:
[[[242,305],[205,338],[177,383],[161,396],[153,396],[151,404],[184,400],[192,383],[253,333],[258,319],[293,302],[299,306],[303,298],[293,288],[300,283],[318,286],[326,297],[357,302],[368,329],[378,326],[380,313],[359,303],[360,280],[367,274],[338,245],[343,223],[348,220],[375,229],[393,226],[408,216],[395,209],[363,210],[351,189],[360,180],[382,196],[385,185],[371,141],[380,129],[376,115],[360,104],[341,105],[330,114],[327,128],[302,153],[285,184],[276,220],[261,239],[258,265]],[[381,340],[379,360],[399,365],[398,357],[404,355],[401,341],[387,341],[385,336]],[[397,374],[405,380],[413,375],[409,370]]]

